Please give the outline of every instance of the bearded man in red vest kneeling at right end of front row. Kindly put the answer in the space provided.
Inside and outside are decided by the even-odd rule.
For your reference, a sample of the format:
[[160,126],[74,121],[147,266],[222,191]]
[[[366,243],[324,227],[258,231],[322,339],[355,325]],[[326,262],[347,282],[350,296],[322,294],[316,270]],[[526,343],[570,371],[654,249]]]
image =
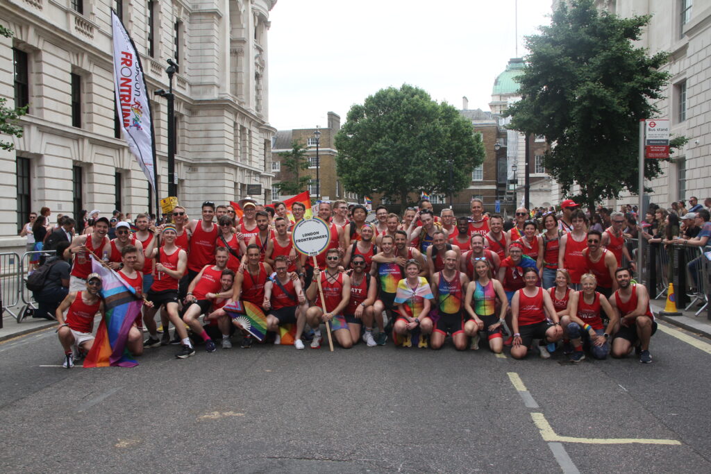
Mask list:
[[644,285],[631,284],[628,269],[617,269],[615,279],[619,290],[610,298],[610,304],[620,318],[620,327],[612,339],[612,357],[626,357],[638,348],[639,362],[650,364],[649,341],[656,333],[657,323],[649,308],[649,293]]

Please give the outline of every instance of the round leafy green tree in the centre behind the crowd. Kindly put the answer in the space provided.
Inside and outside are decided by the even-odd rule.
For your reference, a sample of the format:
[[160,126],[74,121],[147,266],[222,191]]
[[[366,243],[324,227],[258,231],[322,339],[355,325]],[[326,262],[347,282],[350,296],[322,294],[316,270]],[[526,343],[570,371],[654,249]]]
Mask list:
[[407,194],[466,188],[483,162],[481,136],[449,104],[411,85],[389,87],[348,111],[335,138],[344,188],[407,203]]

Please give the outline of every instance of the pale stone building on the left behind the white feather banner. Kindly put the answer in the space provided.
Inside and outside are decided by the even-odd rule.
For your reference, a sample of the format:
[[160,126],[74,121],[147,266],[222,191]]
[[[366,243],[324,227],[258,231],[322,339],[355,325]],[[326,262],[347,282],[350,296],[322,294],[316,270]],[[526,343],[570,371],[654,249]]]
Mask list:
[[[178,64],[176,177],[178,200],[193,217],[205,199],[246,197],[272,183],[269,126],[269,11],[276,0],[6,0],[0,23],[0,97],[28,104],[15,151],[0,151],[0,251],[28,212],[41,206],[76,215],[146,212],[154,202],[114,122],[110,9],[132,36],[151,97],[159,197],[166,197],[166,58]],[[8,138],[3,136],[3,139]]]

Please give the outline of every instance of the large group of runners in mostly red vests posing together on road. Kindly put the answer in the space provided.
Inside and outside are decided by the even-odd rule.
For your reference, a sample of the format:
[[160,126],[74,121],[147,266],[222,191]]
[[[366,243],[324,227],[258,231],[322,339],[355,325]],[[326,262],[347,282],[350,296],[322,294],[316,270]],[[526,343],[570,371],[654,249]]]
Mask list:
[[[250,199],[240,207],[241,218],[231,206],[206,201],[197,220],[178,206],[160,225],[145,214],[133,225],[93,215],[78,235],[69,221],[54,230],[70,237],[55,244],[55,259],[65,260],[55,272],[65,292],[51,293],[63,296],[54,316],[65,367],[90,349],[93,316],[102,309],[90,253],[144,298],[129,335],[134,355],[173,343],[180,345],[176,357],[185,358],[196,344],[207,352],[232,348],[236,335],[249,348],[254,338],[224,309],[247,302],[266,318],[264,341],[281,343],[280,327],[287,328],[296,349],[321,347],[328,323],[341,348],[392,340],[436,350],[451,336],[457,350],[476,350],[485,337],[491,352],[509,346],[516,359],[530,350],[547,358],[561,348],[572,362],[635,350],[640,362],[652,360],[656,322],[645,287],[633,280],[623,212],[610,212],[601,229],[572,200],[558,215],[536,218],[519,208],[508,225],[483,212],[478,199],[466,216],[451,209],[434,215],[422,200],[402,215],[379,206],[372,221],[363,205],[321,202],[314,211],[330,225],[331,239],[314,265],[291,239],[303,203],[291,212],[284,203]],[[707,222],[704,211],[697,215]]]

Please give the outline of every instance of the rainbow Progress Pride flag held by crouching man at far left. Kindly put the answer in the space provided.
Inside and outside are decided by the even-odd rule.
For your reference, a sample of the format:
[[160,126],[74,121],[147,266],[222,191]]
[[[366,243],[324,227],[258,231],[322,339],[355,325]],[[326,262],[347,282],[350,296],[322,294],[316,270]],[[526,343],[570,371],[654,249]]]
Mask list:
[[129,330],[141,313],[143,301],[115,271],[100,264],[93,255],[90,257],[92,271],[100,274],[102,279],[105,317],[84,360],[84,367],[135,367],[138,362],[126,348],[126,341]]

